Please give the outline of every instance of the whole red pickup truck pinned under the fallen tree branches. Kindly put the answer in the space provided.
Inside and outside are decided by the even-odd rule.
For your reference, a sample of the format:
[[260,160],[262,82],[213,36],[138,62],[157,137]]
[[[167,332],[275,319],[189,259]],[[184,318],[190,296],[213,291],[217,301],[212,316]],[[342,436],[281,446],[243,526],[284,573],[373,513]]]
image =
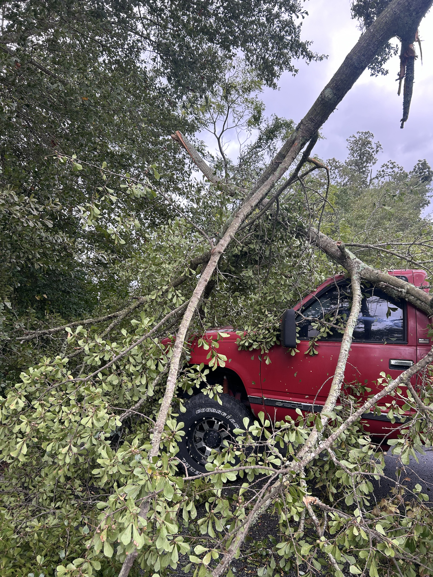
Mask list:
[[[424,271],[391,271],[428,291]],[[203,394],[185,402],[186,413],[180,414],[185,436],[178,456],[189,474],[204,472],[204,465],[212,449],[220,451],[224,441],[232,437],[232,430],[243,428],[244,417],[257,416],[263,411],[271,421],[282,421],[286,415],[298,417],[296,409],[306,413],[320,413],[329,393],[337,364],[342,331],[337,320],[344,321],[350,311],[350,283],[343,276],[327,279],[313,293],[283,316],[281,344],[268,353],[268,362],[260,351],[238,350],[239,336],[233,329],[212,329],[204,340],[216,340],[218,331],[228,334],[219,339],[218,353],[227,357],[226,366],[210,371],[207,381],[223,385],[222,405]],[[311,339],[318,335],[323,321],[329,332],[311,351]],[[394,299],[368,284],[363,284],[363,301],[359,321],[354,329],[353,343],[345,372],[345,385],[363,385],[378,390],[381,372],[397,377],[402,371],[428,353],[431,340],[428,324],[431,319],[405,301]],[[292,354],[296,335],[300,343]],[[322,324],[320,324],[322,323]],[[337,327],[337,328],[335,328]],[[283,346],[285,344],[286,346]],[[191,346],[191,364],[209,364],[209,350],[195,339]],[[269,362],[270,361],[270,362]],[[416,384],[416,377],[413,377]],[[380,388],[380,387],[379,387]],[[198,389],[197,389],[197,392]],[[383,404],[392,402],[383,399]],[[403,404],[402,401],[397,401]],[[393,438],[400,419],[391,423],[386,412],[368,413],[362,419],[369,434]]]

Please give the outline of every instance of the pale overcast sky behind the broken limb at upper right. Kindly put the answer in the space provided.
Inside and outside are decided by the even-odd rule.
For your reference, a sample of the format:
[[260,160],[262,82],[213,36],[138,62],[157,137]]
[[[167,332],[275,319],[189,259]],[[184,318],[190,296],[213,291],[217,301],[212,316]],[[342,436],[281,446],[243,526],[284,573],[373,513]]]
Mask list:
[[[263,94],[267,115],[278,114],[296,122],[307,113],[360,36],[356,21],[350,18],[349,0],[308,0],[305,7],[309,16],[303,23],[303,38],[313,40],[313,50],[328,54],[329,58],[310,65],[300,62],[297,76],[283,74],[279,90],[266,89]],[[376,168],[389,159],[406,170],[423,158],[433,166],[432,31],[433,11],[420,25],[420,38],[424,40],[423,65],[420,58],[415,61],[412,104],[404,129],[400,129],[402,96],[397,96],[395,81],[400,62],[394,57],[388,63],[387,76],[374,78],[366,71],[354,84],[323,125],[326,140],[316,144],[316,155],[344,160],[346,138],[357,130],[369,130],[383,147]]]

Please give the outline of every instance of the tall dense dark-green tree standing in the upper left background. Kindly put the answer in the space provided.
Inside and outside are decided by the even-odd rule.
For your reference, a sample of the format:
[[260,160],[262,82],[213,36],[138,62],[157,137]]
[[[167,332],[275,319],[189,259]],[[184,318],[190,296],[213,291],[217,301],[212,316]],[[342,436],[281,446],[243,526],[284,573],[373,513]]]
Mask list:
[[[113,270],[177,212],[168,200],[154,203],[149,186],[125,184],[124,175],[155,185],[157,163],[170,199],[200,195],[170,134],[199,128],[196,103],[236,51],[268,85],[282,70],[296,72],[293,58],[319,57],[300,38],[297,18],[306,12],[293,1],[278,10],[262,1],[62,0],[3,2],[1,10],[7,335],[16,325],[41,329],[128,302],[129,280]],[[91,166],[71,158],[71,171],[58,153]],[[95,167],[107,166],[101,181]],[[6,358],[14,380],[29,358]]]

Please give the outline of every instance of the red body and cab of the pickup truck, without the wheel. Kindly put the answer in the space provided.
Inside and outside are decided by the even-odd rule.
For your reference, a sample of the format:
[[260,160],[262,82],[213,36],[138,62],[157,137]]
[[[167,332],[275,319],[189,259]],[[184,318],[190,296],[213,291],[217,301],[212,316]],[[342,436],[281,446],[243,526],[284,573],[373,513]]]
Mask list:
[[[401,270],[389,274],[428,291],[425,271]],[[275,344],[266,359],[257,350],[238,350],[238,335],[233,329],[225,328],[223,332],[229,336],[219,341],[218,353],[227,357],[226,367],[209,375],[210,379],[224,384],[226,394],[241,400],[253,415],[263,411],[271,421],[281,421],[286,415],[296,419],[296,409],[304,413],[322,410],[337,365],[342,331],[331,326],[315,347],[311,347],[311,340],[318,335],[318,322],[332,317],[335,310],[342,319],[348,316],[348,280],[343,275],[327,279],[294,306],[294,310],[300,340],[298,352],[293,354],[293,349]],[[390,297],[380,287],[364,283],[361,312],[345,370],[345,387],[352,394],[362,391],[363,387],[371,389],[368,394],[374,394],[382,388],[377,383],[381,372],[395,379],[423,358],[431,349],[430,322],[431,319],[415,306]],[[207,331],[204,339],[210,341],[216,336],[217,330],[213,329]],[[207,365],[207,354],[208,351],[199,347],[195,340],[189,362]],[[416,385],[416,379],[413,377],[413,385]],[[383,406],[392,400],[394,397],[383,399]],[[397,403],[404,402],[397,400]],[[387,413],[388,409],[380,415],[373,411],[364,415],[363,424],[369,434],[395,436],[394,429],[399,426],[400,419],[396,416],[393,424]]]

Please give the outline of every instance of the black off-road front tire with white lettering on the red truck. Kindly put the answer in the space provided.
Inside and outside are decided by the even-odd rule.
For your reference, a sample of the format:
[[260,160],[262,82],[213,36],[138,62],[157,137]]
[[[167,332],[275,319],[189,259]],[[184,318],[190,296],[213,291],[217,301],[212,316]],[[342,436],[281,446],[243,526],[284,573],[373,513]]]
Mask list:
[[219,395],[222,405],[207,395],[196,395],[186,400],[186,413],[180,413],[177,420],[184,422],[182,441],[176,455],[188,471],[188,475],[207,473],[205,464],[211,449],[222,450],[223,441],[234,443],[234,429],[244,429],[243,419],[252,414],[237,399],[230,395]]

